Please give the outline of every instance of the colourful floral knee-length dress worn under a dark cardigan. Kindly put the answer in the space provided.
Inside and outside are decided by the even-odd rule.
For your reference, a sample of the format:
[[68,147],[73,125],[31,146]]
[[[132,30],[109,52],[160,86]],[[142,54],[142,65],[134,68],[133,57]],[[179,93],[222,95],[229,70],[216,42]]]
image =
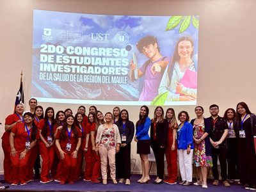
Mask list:
[[[204,134],[204,124],[193,125],[194,137],[198,140]],[[209,166],[212,167],[212,157],[205,155],[205,140],[201,143],[195,143],[195,149],[193,152],[193,162],[196,166]]]

